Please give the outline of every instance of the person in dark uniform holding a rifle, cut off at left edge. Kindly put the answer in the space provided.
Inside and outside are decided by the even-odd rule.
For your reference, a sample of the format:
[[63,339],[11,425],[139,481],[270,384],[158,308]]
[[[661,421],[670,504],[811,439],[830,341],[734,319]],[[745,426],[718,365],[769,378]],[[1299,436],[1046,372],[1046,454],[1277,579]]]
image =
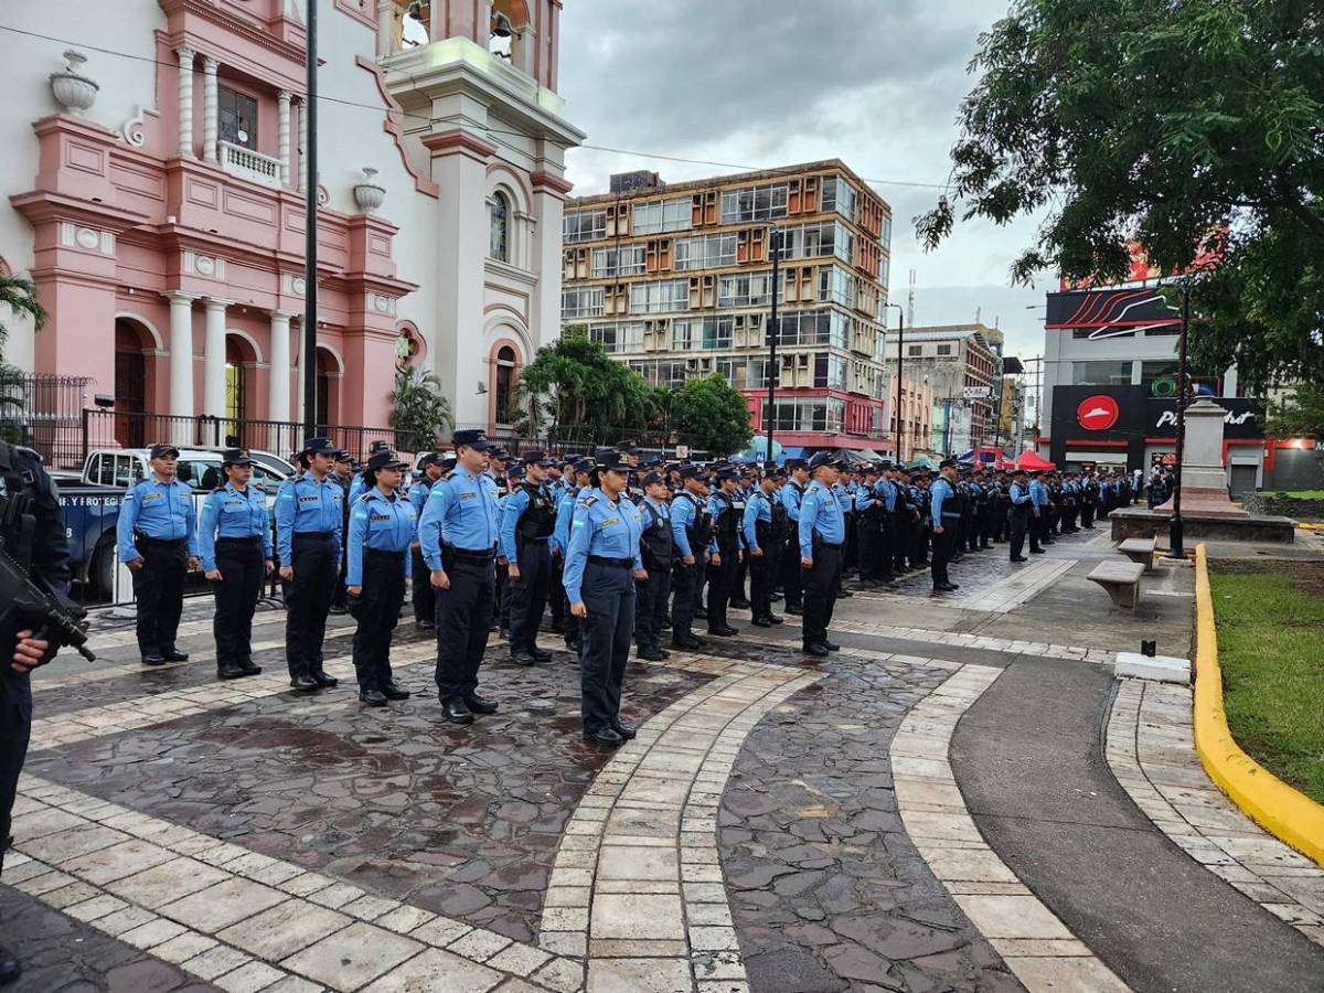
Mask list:
[[[29,449],[0,442],[0,542],[4,553],[44,585],[69,588],[69,545],[54,483]],[[4,605],[0,605],[0,616]],[[56,649],[33,632],[0,626],[0,870],[9,847],[9,816],[19,789],[19,773],[32,733],[32,686],[28,674],[56,655]],[[19,959],[0,948],[0,985],[23,972]]]

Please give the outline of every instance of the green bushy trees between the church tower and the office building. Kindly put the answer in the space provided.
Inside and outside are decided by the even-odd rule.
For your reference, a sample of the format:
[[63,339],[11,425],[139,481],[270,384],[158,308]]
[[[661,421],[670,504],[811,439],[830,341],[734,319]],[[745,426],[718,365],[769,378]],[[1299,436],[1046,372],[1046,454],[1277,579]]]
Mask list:
[[593,426],[642,430],[653,420],[653,389],[602,346],[588,327],[571,324],[520,371],[516,402],[522,432]]

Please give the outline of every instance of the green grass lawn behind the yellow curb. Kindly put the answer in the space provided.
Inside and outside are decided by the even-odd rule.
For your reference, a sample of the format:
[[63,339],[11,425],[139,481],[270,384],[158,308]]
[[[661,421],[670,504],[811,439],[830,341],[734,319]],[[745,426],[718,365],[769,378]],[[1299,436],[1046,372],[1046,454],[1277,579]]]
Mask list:
[[1211,563],[1233,737],[1324,804],[1324,564]]

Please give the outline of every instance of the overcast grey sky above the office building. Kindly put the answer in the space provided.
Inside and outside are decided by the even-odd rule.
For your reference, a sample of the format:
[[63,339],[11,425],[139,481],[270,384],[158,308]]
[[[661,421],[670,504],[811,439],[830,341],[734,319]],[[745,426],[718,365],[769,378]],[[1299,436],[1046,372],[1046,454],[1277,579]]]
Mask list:
[[[565,0],[560,94],[588,144],[771,168],[842,159],[869,180],[944,184],[956,111],[973,86],[977,36],[1006,0]],[[678,183],[737,169],[568,154],[575,193],[605,192],[613,172],[654,169]],[[1041,281],[1012,289],[1009,266],[1034,234],[970,222],[933,253],[912,218],[940,189],[875,183],[892,208],[891,299],[916,319],[994,319],[1008,354],[1043,350]],[[1027,310],[1027,307],[1034,307]],[[895,320],[895,318],[894,318]],[[894,324],[895,326],[895,324]]]

